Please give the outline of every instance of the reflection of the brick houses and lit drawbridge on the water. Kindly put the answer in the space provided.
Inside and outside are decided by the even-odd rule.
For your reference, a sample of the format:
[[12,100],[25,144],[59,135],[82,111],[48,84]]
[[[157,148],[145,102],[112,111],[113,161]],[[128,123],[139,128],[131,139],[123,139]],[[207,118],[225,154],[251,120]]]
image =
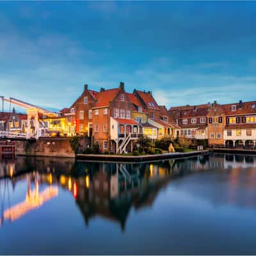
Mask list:
[[[228,169],[227,201],[236,204],[234,186],[236,182],[241,182],[241,164],[250,169],[250,177],[246,177],[245,182],[248,188],[253,188],[256,184],[255,170],[252,167],[255,164],[255,156],[213,154],[140,164],[86,163],[74,159],[18,157],[15,161],[1,162],[0,186],[3,187],[4,180],[10,179],[12,189],[15,190],[17,182],[27,180],[27,195],[24,202],[18,204],[19,207],[13,205],[9,210],[4,209],[2,216],[4,220],[16,220],[57,196],[58,187],[61,187],[70,191],[74,197],[83,214],[85,225],[89,225],[92,218],[100,216],[115,221],[124,230],[132,207],[136,210],[150,207],[159,191],[182,175]],[[253,181],[252,177],[255,178]],[[30,188],[31,181],[35,187],[33,191]],[[40,186],[46,187],[41,193]],[[255,202],[247,198],[246,204]],[[24,211],[24,208],[28,211]],[[20,209],[20,214],[17,209]]]

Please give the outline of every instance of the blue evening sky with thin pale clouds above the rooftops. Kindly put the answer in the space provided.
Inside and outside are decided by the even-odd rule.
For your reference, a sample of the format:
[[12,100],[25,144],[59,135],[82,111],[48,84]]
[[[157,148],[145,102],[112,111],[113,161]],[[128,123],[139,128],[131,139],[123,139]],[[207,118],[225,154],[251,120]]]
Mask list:
[[167,108],[255,100],[255,45],[252,1],[6,1],[0,95],[61,109],[122,81]]

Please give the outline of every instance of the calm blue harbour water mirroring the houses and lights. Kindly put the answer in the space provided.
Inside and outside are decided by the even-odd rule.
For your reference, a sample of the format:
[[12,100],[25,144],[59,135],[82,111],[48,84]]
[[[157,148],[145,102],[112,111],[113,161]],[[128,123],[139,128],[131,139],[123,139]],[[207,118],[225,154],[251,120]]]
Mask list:
[[1,160],[0,253],[255,254],[255,163]]

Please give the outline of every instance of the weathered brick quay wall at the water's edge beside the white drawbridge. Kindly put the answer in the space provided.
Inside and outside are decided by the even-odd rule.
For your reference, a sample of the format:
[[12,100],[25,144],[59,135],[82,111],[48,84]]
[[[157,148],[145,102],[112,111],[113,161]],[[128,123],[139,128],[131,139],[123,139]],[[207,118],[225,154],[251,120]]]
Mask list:
[[20,156],[75,157],[67,138],[15,141],[15,154]]

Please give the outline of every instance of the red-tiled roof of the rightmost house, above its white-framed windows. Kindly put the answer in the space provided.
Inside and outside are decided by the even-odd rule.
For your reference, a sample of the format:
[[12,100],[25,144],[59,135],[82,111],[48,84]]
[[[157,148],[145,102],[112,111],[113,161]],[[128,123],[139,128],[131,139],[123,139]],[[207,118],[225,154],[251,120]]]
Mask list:
[[[236,105],[236,111],[232,111],[232,105]],[[254,106],[254,108],[253,108]],[[256,114],[256,101],[237,102],[233,104],[223,104],[221,108],[225,115],[246,115]]]

